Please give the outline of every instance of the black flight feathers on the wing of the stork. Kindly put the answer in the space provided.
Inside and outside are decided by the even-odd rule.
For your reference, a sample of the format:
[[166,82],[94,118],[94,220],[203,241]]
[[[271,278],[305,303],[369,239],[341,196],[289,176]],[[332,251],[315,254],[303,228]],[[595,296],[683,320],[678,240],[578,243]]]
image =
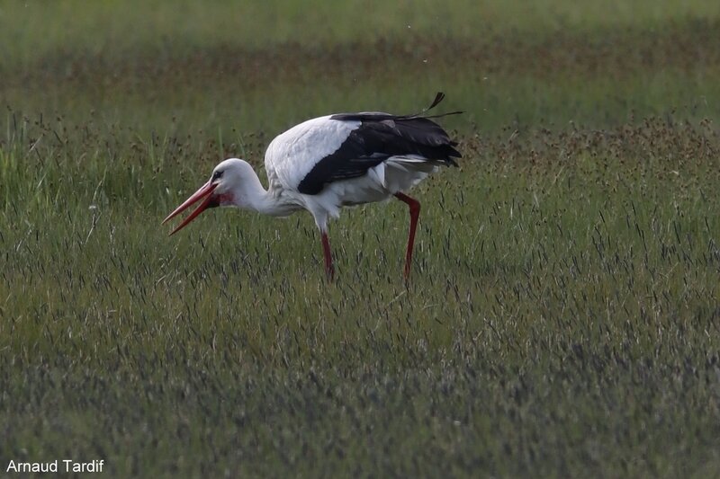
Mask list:
[[421,116],[441,102],[444,96],[443,93],[437,93],[435,101],[426,110],[414,115],[382,112],[333,115],[331,120],[359,120],[361,124],[350,132],[338,150],[312,168],[298,185],[298,191],[308,195],[318,194],[328,183],[362,176],[391,156],[419,155],[428,161],[457,166],[454,158],[461,156],[455,149],[457,143],[429,118],[460,111],[435,117]]

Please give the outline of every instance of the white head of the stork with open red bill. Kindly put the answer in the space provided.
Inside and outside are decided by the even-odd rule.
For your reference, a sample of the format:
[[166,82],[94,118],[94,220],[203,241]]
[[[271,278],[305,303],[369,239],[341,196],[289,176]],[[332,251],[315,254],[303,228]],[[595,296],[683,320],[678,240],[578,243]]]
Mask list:
[[235,204],[235,195],[237,191],[242,190],[242,185],[247,179],[248,170],[252,172],[252,167],[247,162],[238,160],[238,158],[230,158],[215,166],[210,175],[210,180],[203,184],[198,191],[195,191],[190,198],[184,200],[182,205],[175,208],[175,211],[163,220],[163,224],[165,224],[185,209],[190,208],[194,203],[202,200],[202,203],[188,217],[184,218],[183,222],[175,227],[170,235],[175,235],[176,232],[187,226],[207,208]]

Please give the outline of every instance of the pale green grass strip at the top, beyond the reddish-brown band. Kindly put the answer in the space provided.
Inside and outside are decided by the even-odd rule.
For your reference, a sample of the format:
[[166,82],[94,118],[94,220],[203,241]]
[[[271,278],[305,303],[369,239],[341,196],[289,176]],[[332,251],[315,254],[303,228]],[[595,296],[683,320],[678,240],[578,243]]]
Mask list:
[[[372,13],[372,14],[368,14]],[[613,0],[605,4],[567,0],[512,2],[317,2],[271,0],[237,4],[227,0],[156,2],[111,0],[87,5],[77,0],[51,3],[5,2],[0,41],[12,45],[4,63],[34,64],[62,51],[114,56],[173,56],[217,45],[266,48],[287,42],[328,46],[379,37],[409,35],[486,39],[509,32],[546,36],[557,30],[644,29],[687,19],[717,19],[720,6],[703,0]]]

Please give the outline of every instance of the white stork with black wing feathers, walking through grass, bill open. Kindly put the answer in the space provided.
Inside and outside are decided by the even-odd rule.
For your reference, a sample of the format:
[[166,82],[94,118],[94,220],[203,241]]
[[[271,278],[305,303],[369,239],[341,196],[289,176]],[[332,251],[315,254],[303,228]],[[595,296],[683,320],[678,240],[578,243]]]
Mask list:
[[[170,213],[163,223],[193,203],[200,206],[170,233],[193,221],[207,208],[229,206],[285,217],[300,209],[310,211],[320,229],[325,272],[334,269],[328,239],[329,217],[339,217],[340,208],[394,196],[410,207],[410,234],[405,254],[405,279],[410,275],[412,247],[418,225],[420,203],[403,191],[424,180],[439,165],[457,166],[461,155],[457,143],[426,111],[413,115],[382,112],[340,113],[307,120],[288,129],[267,146],[266,190],[252,166],[230,158],[215,166],[210,180]],[[204,200],[203,200],[204,199]]]

